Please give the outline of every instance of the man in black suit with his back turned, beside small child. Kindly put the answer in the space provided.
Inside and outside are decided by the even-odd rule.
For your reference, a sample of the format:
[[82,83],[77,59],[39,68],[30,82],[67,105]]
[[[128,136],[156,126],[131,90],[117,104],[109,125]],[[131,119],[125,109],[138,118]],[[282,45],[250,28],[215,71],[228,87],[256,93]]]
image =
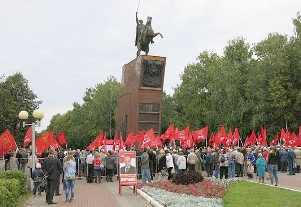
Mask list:
[[60,160],[55,157],[56,153],[55,149],[50,149],[49,156],[46,157],[43,162],[45,178],[47,178],[48,183],[48,190],[46,193],[46,202],[48,202],[48,204],[56,204],[52,199],[57,182],[60,180],[60,172],[63,171]]

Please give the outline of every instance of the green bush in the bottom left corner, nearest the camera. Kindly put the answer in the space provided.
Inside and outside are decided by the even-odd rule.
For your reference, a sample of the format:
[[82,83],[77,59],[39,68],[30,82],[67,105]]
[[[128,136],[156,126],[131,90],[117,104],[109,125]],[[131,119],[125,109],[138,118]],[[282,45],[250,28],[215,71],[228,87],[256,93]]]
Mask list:
[[20,192],[19,180],[15,179],[15,178],[1,179],[0,186],[4,186],[9,191],[7,199],[10,203],[10,206],[18,206],[18,196],[19,196],[19,192]]

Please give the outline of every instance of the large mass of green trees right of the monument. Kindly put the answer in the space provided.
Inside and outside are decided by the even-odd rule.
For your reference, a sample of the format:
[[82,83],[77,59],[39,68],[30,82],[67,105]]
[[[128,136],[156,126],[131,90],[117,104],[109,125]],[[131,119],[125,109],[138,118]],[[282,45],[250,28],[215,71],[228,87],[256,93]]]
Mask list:
[[[268,136],[301,125],[301,16],[293,19],[295,35],[278,33],[252,47],[243,37],[230,40],[222,56],[200,53],[181,74],[175,93],[163,98],[166,123],[192,130],[209,125],[217,132],[238,127],[245,137],[266,126]],[[171,104],[172,103],[172,104]],[[171,112],[174,113],[171,113]],[[166,130],[162,129],[164,132]]]

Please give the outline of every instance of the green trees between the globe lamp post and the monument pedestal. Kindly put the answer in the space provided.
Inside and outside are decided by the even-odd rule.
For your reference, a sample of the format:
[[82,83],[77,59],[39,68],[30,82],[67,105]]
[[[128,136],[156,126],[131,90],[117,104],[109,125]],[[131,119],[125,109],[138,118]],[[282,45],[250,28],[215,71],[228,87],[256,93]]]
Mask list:
[[73,109],[66,114],[54,115],[46,131],[66,133],[68,147],[87,147],[100,130],[107,132],[107,138],[111,138],[115,131],[119,94],[120,83],[112,76],[104,83],[86,88],[84,103],[74,102]]

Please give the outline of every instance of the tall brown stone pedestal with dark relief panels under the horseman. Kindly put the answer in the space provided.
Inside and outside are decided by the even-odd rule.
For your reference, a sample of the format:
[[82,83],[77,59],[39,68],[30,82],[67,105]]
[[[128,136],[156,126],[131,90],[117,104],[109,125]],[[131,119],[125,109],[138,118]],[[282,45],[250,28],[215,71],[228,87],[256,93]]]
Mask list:
[[166,57],[140,55],[122,67],[115,129],[123,140],[150,128],[161,135],[165,63]]

